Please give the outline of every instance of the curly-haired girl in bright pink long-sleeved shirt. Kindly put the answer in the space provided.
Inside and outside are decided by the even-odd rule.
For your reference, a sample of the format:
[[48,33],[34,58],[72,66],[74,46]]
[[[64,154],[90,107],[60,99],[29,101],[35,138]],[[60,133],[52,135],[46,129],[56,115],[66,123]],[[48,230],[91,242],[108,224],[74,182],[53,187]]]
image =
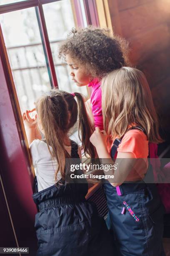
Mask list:
[[[105,74],[125,66],[127,43],[109,30],[89,26],[72,29],[59,50],[59,58],[70,66],[70,75],[77,86],[92,87],[90,97],[95,127],[103,130],[100,80]],[[86,105],[87,107],[88,105]]]

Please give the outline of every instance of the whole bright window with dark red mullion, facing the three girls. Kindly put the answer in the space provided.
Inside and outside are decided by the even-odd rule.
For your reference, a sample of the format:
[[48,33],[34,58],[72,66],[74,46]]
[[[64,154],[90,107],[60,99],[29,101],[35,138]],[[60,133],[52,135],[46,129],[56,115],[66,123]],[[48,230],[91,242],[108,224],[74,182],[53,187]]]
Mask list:
[[[37,98],[55,86],[88,96],[87,88],[75,86],[68,68],[57,59],[59,44],[70,29],[90,24],[92,8],[84,6],[88,2],[0,0],[2,37],[17,92],[18,99],[15,98],[15,101],[19,102],[21,112],[34,108]],[[93,25],[96,26],[96,23]],[[72,138],[77,140],[76,129],[75,126],[72,130]]]

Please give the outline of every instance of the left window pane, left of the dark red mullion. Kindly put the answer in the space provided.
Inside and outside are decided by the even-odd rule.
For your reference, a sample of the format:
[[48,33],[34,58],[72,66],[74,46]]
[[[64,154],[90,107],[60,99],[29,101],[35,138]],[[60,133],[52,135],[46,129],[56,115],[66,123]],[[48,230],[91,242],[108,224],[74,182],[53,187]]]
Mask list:
[[1,14],[0,24],[23,112],[51,88],[35,8]]

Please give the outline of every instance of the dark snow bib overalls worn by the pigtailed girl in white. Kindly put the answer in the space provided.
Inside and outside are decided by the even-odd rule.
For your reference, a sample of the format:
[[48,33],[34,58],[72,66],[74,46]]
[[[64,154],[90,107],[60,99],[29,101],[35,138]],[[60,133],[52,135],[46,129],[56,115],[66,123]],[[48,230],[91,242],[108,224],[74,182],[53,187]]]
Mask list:
[[[79,159],[77,143],[71,141],[71,146],[71,158]],[[95,204],[85,200],[87,182],[60,182],[33,195],[39,209],[37,256],[114,255],[104,219]]]

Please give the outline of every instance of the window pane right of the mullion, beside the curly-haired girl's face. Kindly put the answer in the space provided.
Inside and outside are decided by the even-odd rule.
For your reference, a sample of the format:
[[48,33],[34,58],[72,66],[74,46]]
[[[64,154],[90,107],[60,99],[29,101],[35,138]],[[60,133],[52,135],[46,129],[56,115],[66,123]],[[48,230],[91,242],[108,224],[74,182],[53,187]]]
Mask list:
[[74,27],[75,21],[70,0],[62,0],[43,5],[48,37],[59,88],[67,92],[81,92],[87,97],[87,87],[77,87],[70,79],[70,68],[58,59],[58,49],[67,34]]

